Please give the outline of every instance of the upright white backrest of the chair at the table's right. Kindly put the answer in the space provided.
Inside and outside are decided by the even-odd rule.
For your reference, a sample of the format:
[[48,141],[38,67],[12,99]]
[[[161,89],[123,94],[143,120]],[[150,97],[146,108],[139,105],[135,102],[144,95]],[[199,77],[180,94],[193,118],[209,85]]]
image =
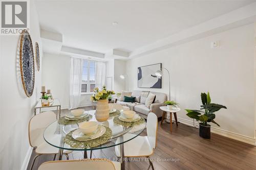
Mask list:
[[146,121],[146,133],[152,149],[156,148],[157,128],[158,124],[156,114],[152,112],[148,113]]

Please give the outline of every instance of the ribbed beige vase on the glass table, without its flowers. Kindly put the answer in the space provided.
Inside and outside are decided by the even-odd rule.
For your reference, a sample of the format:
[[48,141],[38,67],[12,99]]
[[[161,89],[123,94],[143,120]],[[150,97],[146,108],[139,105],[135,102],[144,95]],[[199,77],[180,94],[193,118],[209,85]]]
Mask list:
[[109,113],[109,102],[107,99],[98,100],[96,106],[95,117],[99,122],[105,122],[110,116]]

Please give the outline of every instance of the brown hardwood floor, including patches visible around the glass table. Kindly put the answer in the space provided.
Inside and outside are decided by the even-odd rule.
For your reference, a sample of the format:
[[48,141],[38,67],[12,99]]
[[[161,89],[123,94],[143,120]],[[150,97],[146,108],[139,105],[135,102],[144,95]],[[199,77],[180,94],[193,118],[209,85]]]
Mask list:
[[[91,107],[85,107],[91,110]],[[61,110],[66,114],[68,110]],[[146,135],[144,131],[142,135]],[[32,153],[28,169],[35,154]],[[90,156],[90,152],[88,152]],[[82,152],[74,151],[70,159],[83,158]],[[155,169],[256,169],[256,147],[217,134],[211,139],[199,136],[198,129],[173,124],[173,133],[169,132],[169,124],[158,125],[157,147],[151,156]],[[93,151],[93,158],[115,159],[115,149],[108,148]],[[165,159],[166,158],[166,159]],[[63,155],[63,159],[66,157]],[[45,161],[53,160],[53,155],[39,156],[33,169]],[[125,163],[126,169],[148,169],[149,162],[131,160]],[[151,168],[150,168],[151,169]]]

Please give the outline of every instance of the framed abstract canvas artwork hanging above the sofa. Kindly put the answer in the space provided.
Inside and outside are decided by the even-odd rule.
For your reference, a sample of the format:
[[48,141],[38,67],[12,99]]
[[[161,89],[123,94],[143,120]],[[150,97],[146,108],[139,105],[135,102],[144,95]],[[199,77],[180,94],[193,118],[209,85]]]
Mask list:
[[162,68],[162,63],[138,67],[138,87],[162,88],[162,79],[157,77],[156,71]]

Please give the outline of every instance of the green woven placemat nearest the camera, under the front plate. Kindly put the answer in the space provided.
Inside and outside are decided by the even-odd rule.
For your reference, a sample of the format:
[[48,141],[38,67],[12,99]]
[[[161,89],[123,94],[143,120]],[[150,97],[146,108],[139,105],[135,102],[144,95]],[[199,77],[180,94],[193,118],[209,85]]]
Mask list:
[[73,130],[66,135],[64,142],[69,144],[72,148],[77,148],[77,149],[98,147],[99,145],[108,142],[112,136],[112,130],[108,127],[105,127],[105,128],[106,128],[106,132],[102,136],[100,136],[96,139],[87,140],[87,141],[79,141],[79,140],[74,139],[72,137],[72,133],[75,130]]

